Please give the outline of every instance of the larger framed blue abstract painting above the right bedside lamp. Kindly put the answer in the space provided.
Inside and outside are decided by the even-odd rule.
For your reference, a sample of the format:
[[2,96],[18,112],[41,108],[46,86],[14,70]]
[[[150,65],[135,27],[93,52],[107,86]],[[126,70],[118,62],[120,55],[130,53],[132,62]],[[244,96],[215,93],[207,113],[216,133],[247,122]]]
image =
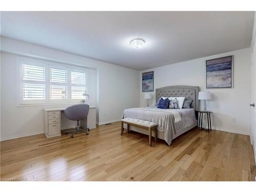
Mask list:
[[206,89],[232,88],[232,56],[206,61]]

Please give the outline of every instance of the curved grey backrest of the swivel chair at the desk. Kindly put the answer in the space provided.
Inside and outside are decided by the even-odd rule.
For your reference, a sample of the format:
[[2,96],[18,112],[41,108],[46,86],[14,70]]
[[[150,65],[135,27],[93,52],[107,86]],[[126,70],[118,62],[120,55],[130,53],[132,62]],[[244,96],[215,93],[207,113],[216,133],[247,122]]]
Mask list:
[[66,108],[64,113],[70,120],[86,120],[89,113],[89,108],[90,106],[88,104],[75,104]]

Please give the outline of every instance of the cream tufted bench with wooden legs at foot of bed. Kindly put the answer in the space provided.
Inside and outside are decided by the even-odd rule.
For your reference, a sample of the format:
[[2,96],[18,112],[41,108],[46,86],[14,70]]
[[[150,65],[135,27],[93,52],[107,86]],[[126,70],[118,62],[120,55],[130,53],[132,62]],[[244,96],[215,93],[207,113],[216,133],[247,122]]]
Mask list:
[[144,121],[140,119],[133,119],[133,118],[124,118],[121,119],[121,135],[123,134],[123,123],[127,124],[127,133],[129,133],[129,126],[133,125],[142,129],[148,130],[148,140],[149,145],[151,146],[151,137],[152,137],[152,130],[155,132],[155,141],[157,142],[157,123]]

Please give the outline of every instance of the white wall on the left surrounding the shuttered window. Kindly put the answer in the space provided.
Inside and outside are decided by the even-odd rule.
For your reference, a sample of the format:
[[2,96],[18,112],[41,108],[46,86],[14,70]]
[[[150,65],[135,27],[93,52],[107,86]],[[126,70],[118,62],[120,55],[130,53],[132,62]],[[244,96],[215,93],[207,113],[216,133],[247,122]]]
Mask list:
[[95,89],[95,97],[90,102],[97,106],[99,124],[119,120],[124,109],[139,105],[139,71],[6,37],[1,46],[1,140],[43,131],[46,106],[16,106],[16,57],[20,55],[94,69],[96,86],[90,90]]

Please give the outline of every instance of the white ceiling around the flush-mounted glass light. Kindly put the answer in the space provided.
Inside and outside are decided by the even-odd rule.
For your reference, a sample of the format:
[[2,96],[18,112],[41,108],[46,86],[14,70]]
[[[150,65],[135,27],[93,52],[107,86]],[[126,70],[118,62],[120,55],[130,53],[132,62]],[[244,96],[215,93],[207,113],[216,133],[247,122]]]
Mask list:
[[[2,12],[1,34],[144,70],[250,47],[254,12]],[[130,41],[142,38],[134,49]]]

